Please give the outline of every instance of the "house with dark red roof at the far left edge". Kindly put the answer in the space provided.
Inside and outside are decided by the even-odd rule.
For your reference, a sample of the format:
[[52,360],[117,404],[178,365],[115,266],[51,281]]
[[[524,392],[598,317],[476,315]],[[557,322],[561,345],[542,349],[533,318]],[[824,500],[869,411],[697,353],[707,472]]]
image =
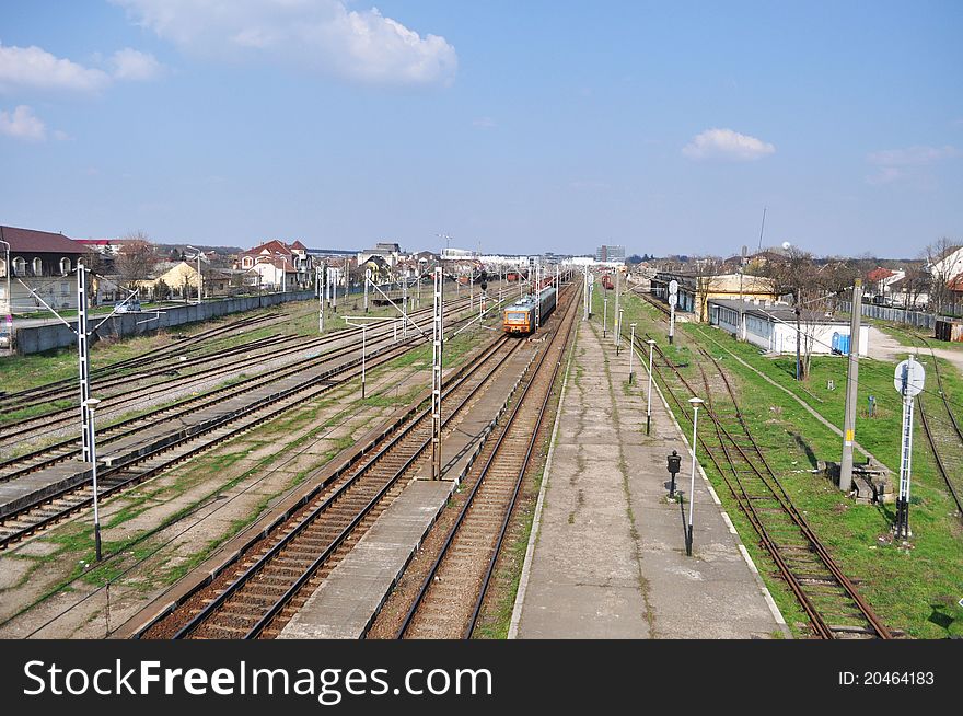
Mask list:
[[43,310],[44,303],[77,308],[77,262],[85,246],[62,233],[0,226],[0,305],[10,313]]

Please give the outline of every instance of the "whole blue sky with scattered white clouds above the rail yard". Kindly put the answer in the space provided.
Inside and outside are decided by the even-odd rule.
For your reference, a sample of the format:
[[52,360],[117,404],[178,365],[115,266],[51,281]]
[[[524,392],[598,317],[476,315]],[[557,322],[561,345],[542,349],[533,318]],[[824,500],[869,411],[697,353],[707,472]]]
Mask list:
[[914,257],[963,242],[963,2],[0,3],[0,223]]

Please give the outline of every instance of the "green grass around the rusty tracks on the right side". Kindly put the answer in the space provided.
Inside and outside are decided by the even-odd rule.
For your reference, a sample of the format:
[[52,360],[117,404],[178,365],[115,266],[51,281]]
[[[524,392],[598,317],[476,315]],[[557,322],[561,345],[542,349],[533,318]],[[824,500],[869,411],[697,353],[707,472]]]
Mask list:
[[[626,297],[624,304],[626,324],[629,319],[638,321],[660,344],[664,343],[664,324],[655,309],[635,297]],[[963,608],[956,604],[963,597],[963,529],[925,447],[921,427],[917,424],[913,464],[913,490],[917,498],[910,511],[914,536],[909,547],[904,548],[890,539],[892,505],[857,505],[825,477],[811,472],[816,460],[838,461],[842,438],[814,420],[792,397],[734,360],[731,354],[789,390],[836,426],[843,421],[845,359],[814,357],[811,376],[799,383],[794,380],[794,358],[764,357],[753,346],[738,343],[715,328],[677,325],[676,343],[681,344],[676,356],[682,355],[685,346],[703,345],[721,358],[721,365],[741,399],[750,430],[766,451],[780,482],[842,569],[851,578],[861,580],[860,591],[883,621],[891,628],[903,630],[918,638],[963,635]],[[856,438],[895,472],[900,463],[902,405],[893,389],[894,366],[886,361],[860,362]],[[963,381],[959,373],[942,360],[940,369],[950,399],[963,405]],[[684,372],[693,381],[698,374],[692,367]],[[831,380],[835,382],[835,389],[828,388]],[[874,416],[870,416],[867,409],[869,395],[877,399]],[[686,416],[675,412],[681,425],[685,426]],[[708,430],[708,421],[700,421],[700,427]],[[805,620],[794,599],[785,584],[774,577],[771,562],[759,547],[754,530],[721,476],[708,460],[703,461],[703,466],[787,622],[799,633],[798,624]]]

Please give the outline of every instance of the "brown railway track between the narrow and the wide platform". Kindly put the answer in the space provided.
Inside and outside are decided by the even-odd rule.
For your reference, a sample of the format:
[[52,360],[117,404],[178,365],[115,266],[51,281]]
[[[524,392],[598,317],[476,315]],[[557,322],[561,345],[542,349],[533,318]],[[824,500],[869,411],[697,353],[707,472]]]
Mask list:
[[513,407],[465,478],[468,490],[395,638],[471,638],[575,323],[576,296],[550,345],[530,366]]

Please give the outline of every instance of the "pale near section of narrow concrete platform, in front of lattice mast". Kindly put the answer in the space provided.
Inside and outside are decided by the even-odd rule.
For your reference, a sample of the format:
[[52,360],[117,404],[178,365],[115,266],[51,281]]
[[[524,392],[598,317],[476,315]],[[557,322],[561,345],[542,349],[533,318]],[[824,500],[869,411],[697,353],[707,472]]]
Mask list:
[[278,638],[360,638],[454,488],[455,483],[449,481],[408,485]]

